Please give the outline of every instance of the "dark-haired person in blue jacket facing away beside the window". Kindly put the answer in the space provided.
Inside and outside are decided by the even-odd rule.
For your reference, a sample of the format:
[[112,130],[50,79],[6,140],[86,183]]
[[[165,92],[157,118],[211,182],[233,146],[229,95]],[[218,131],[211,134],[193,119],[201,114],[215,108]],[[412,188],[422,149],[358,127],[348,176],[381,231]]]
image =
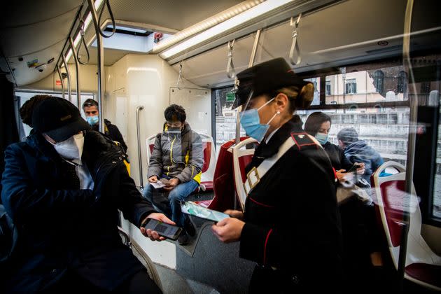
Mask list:
[[384,163],[381,155],[365,141],[359,140],[358,133],[353,127],[345,127],[340,130],[337,134],[337,140],[350,162],[364,162],[365,172],[361,177],[370,183],[370,176]]

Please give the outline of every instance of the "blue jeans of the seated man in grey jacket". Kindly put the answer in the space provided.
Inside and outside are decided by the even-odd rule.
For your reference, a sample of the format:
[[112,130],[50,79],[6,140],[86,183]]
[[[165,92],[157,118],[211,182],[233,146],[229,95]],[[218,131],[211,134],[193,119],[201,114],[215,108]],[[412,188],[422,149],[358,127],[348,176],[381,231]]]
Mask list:
[[[162,208],[158,203],[153,201],[153,192],[157,191],[158,193],[167,193],[163,189],[156,190],[150,184],[144,187],[143,196],[146,200],[150,201],[155,205],[155,208],[159,209],[161,212],[166,214],[169,218],[169,209],[172,209],[172,221],[176,223],[179,227],[183,227],[184,225],[184,216],[181,212],[181,201],[185,201],[188,195],[190,195],[196,188],[199,186],[197,181],[191,180],[186,183],[180,183],[169,193],[169,207]],[[168,213],[167,213],[168,212]]]

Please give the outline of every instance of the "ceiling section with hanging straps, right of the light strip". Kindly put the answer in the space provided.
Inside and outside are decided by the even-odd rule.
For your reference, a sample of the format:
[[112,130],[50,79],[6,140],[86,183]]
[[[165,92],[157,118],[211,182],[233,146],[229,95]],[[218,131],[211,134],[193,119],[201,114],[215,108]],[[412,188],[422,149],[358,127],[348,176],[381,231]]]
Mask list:
[[[404,27],[406,3],[406,0],[350,0],[305,15],[300,20],[297,38],[302,61],[293,66],[293,69],[296,72],[310,71],[400,55],[400,35]],[[415,16],[419,16],[421,20],[422,15],[428,18],[428,14],[430,13]],[[434,13],[432,16],[432,19],[439,20]],[[418,18],[414,18],[414,30],[435,26],[435,23],[429,20],[417,20]],[[284,57],[288,61],[292,33],[293,27],[290,27],[289,20],[263,30],[255,55],[255,64],[275,57]],[[233,62],[237,73],[248,66],[254,36],[255,34],[251,34],[235,41]],[[427,37],[412,37],[412,44],[427,45],[430,41],[440,43],[439,38],[434,36],[432,35],[431,40]],[[439,31],[437,36],[439,37]],[[388,45],[379,45],[379,39],[386,39]],[[228,78],[226,73],[227,53],[225,43],[185,59],[182,62],[183,77],[201,87],[232,85],[233,79]],[[179,71],[179,64],[173,66]]]

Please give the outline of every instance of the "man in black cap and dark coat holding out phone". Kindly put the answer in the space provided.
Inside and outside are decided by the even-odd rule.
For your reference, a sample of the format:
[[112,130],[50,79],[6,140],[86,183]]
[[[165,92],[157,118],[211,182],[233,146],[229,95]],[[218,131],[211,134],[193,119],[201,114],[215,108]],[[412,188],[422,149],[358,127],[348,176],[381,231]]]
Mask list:
[[120,209],[138,227],[147,218],[174,223],[141,197],[125,154],[65,99],[38,103],[32,126],[27,141],[5,152],[1,200],[20,237],[3,286],[13,293],[160,293],[121,242],[115,214]]

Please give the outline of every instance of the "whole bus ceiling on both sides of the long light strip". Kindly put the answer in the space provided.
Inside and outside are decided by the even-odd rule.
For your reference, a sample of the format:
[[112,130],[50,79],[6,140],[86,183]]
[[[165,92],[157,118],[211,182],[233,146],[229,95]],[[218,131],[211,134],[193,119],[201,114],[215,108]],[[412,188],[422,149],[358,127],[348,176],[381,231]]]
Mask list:
[[[163,27],[170,31],[180,31],[195,25],[240,2],[110,0],[116,20],[137,22],[144,24],[144,27]],[[54,70],[55,62],[49,64],[43,73],[34,68],[28,69],[26,62],[38,59],[38,62],[45,63],[51,57],[55,57],[57,61],[81,3],[83,0],[26,0],[10,3],[4,9],[0,20],[0,47],[10,67],[15,69],[14,76],[19,86],[45,78]],[[393,36],[402,34],[406,3],[406,0],[347,0],[304,15],[300,21],[298,37],[302,62],[293,68],[300,72],[317,69],[317,64],[321,67],[337,66],[339,63],[399,55],[402,40]],[[412,30],[439,25],[438,10],[434,8],[436,3],[437,0],[426,0],[425,3],[416,1]],[[419,21],[415,21],[417,16]],[[106,11],[103,19],[107,18],[109,14]],[[92,27],[91,25],[86,33],[87,41],[92,38]],[[289,20],[264,29],[255,63],[273,57],[288,59],[292,31]],[[388,41],[386,47],[377,44],[380,38]],[[440,43],[439,38],[427,37],[415,42]],[[213,46],[206,52],[185,59],[183,78],[205,87],[232,83],[225,73],[226,43],[217,48]],[[233,60],[237,72],[248,66],[252,46],[253,34],[236,40]],[[90,64],[97,64],[96,51],[96,48],[90,48]],[[132,52],[105,49],[104,63],[111,66],[129,53]],[[20,62],[18,57],[23,57],[24,60]],[[174,64],[176,71],[178,67],[178,64]]]

